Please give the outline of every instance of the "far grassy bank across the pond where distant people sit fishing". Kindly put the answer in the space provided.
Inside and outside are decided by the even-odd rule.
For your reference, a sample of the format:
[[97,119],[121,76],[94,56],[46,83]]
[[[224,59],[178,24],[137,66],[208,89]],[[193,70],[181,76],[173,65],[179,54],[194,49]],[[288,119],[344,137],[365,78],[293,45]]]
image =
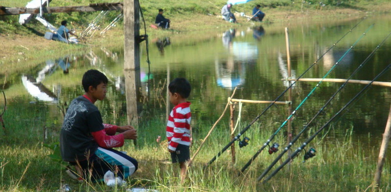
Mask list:
[[[121,1],[121,0],[120,0]],[[21,7],[28,0],[1,1],[2,6]],[[53,1],[50,6],[77,6],[87,5],[91,0],[68,0]],[[93,0],[94,3],[105,2],[105,0]],[[140,0],[141,9],[146,22],[147,34],[150,38],[161,36],[183,36],[186,39],[189,36],[205,34],[216,28],[227,29],[230,27],[245,27],[253,25],[252,22],[246,23],[246,19],[238,17],[239,24],[232,24],[218,19],[220,8],[225,4],[225,0],[208,0],[203,2],[194,2],[189,0],[163,0],[152,2],[149,0]],[[261,4],[262,11],[266,13],[264,23],[279,23],[297,19],[321,19],[324,17],[345,18],[352,15],[367,15],[385,13],[391,10],[391,3],[387,0],[348,0],[338,4],[338,0],[324,1],[324,6],[319,6],[316,1],[306,1],[305,3],[291,0],[264,0],[262,2],[251,1],[245,4],[235,5],[232,12],[243,12],[251,15],[254,4]],[[165,10],[165,17],[172,20],[172,30],[154,30],[149,27],[154,23],[157,15],[157,9]],[[82,26],[86,27],[88,23],[97,16],[98,12],[73,12],[46,14],[47,21],[55,26],[59,26],[61,20],[67,19],[74,22],[69,28],[75,28],[81,31]],[[106,26],[118,14],[117,11],[110,12],[105,19],[102,19],[102,26]],[[64,43],[49,41],[43,38],[46,32],[45,27],[32,19],[28,24],[22,26],[18,23],[18,16],[3,16],[0,18],[0,64],[18,63],[17,66],[24,66],[26,60],[29,65],[40,63],[46,58],[66,55],[69,52],[85,51],[91,46],[83,45],[65,45]],[[143,34],[143,23],[141,23],[141,34]],[[122,20],[117,23],[117,27],[108,33],[100,36],[96,33],[92,38],[87,38],[89,45],[111,46],[123,41]],[[204,37],[204,36],[203,36]],[[93,47],[93,46],[92,46]],[[13,66],[15,66],[13,64]],[[5,67],[8,71],[12,71]]]

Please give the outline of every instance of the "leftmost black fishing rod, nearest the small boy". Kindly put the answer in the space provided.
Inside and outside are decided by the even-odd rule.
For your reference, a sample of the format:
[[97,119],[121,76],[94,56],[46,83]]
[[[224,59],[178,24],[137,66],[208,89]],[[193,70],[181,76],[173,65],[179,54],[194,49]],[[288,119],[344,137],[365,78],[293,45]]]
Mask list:
[[293,85],[296,84],[297,81],[299,81],[299,79],[301,77],[304,76],[304,74],[306,74],[313,66],[315,66],[319,60],[321,60],[321,58],[323,58],[324,55],[326,55],[327,52],[329,52],[332,48],[334,48],[337,43],[339,43],[343,38],[346,37],[347,34],[349,34],[354,28],[356,28],[363,20],[367,19],[366,17],[363,18],[362,20],[360,20],[360,22],[358,22],[356,25],[354,25],[348,32],[345,33],[344,36],[342,36],[340,39],[337,40],[337,42],[335,42],[326,52],[323,53],[323,55],[318,58],[310,67],[308,67],[304,73],[302,73],[294,82],[292,82],[292,84],[287,87],[279,96],[277,96],[277,98],[268,106],[266,107],[261,114],[259,114],[258,116],[256,116],[253,121],[250,122],[249,125],[247,125],[239,134],[237,134],[217,155],[215,155],[206,165],[206,167],[208,165],[210,165],[211,163],[213,163],[213,161],[215,161],[217,159],[217,157],[219,157],[223,152],[225,152],[231,145],[232,143],[234,143],[235,141],[237,140],[240,140],[240,136],[242,134],[244,134],[254,123],[256,120],[258,120],[264,113],[266,113],[267,110],[269,110],[275,103],[276,101],[278,101],[279,98],[281,98]]

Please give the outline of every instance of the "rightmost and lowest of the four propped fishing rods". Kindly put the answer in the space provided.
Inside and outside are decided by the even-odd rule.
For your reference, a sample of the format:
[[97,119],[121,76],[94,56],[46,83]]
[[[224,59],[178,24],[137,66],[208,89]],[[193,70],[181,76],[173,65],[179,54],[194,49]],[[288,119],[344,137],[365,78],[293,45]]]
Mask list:
[[[289,156],[273,173],[271,173],[262,183],[266,183],[268,180],[270,180],[279,170],[281,170],[288,162],[290,162],[291,160],[293,160],[293,158],[296,157],[297,154],[299,154],[299,152],[301,152],[301,150],[303,150],[305,148],[306,145],[308,145],[314,138],[316,135],[318,135],[319,133],[322,132],[322,130],[327,127],[330,122],[336,117],[338,116],[342,111],[345,110],[345,108],[350,105],[350,103],[352,103],[358,96],[360,96],[372,83],[373,81],[375,81],[377,78],[379,78],[380,76],[382,76],[384,73],[387,72],[387,70],[389,70],[391,67],[391,64],[389,64],[385,69],[383,69],[382,72],[380,72],[376,77],[374,77],[360,92],[358,92],[349,102],[347,102],[345,104],[344,107],[341,108],[340,111],[338,111],[335,115],[333,115],[315,134],[311,135],[311,137],[309,137],[307,140],[305,140],[305,142],[293,153],[291,154],[291,156]],[[308,158],[311,158],[313,156],[315,156],[315,149],[314,148],[311,148],[308,152],[306,152],[306,154],[304,155],[304,160],[308,159]],[[259,180],[258,180],[259,181]]]

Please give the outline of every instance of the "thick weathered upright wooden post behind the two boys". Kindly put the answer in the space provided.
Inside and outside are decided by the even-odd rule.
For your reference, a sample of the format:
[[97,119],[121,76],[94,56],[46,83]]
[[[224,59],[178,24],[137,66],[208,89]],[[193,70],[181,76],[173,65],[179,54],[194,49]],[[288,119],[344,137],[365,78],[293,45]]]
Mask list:
[[139,8],[136,0],[124,0],[124,77],[128,124],[138,127],[140,95]]

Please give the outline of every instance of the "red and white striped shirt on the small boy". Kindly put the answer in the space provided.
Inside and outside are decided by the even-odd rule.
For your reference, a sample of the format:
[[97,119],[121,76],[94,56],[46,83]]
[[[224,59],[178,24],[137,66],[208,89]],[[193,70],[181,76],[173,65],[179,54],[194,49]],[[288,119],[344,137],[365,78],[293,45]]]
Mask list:
[[175,106],[167,121],[168,149],[175,151],[178,144],[190,146],[190,102]]

